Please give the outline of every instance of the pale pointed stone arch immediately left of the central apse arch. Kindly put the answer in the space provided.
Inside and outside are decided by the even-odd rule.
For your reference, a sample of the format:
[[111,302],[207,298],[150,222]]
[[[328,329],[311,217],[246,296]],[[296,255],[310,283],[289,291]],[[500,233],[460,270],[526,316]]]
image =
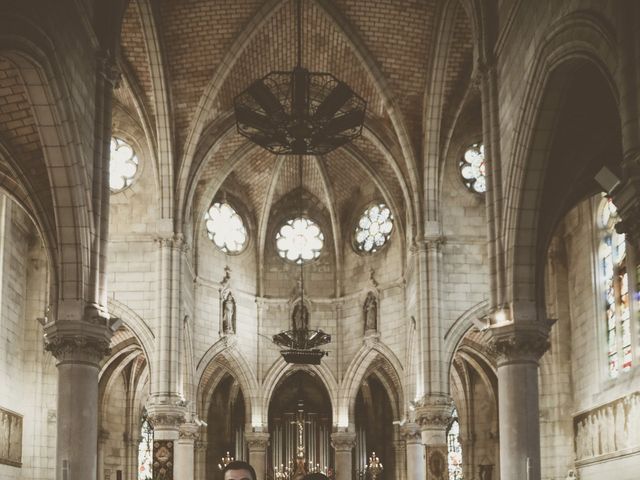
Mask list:
[[[221,372],[233,376],[240,387],[245,401],[247,418],[253,418],[260,406],[260,388],[257,379],[242,352],[235,344],[233,336],[223,337],[205,352],[195,370],[194,385],[197,386],[196,413],[201,418],[208,412],[208,397],[221,379]],[[216,380],[217,379],[217,380]]]

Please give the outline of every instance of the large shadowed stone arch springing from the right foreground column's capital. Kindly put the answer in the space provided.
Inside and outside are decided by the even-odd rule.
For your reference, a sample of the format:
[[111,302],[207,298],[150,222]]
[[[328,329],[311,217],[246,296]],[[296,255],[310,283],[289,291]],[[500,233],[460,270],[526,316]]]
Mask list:
[[540,248],[537,222],[553,129],[539,127],[557,120],[567,73],[585,64],[600,72],[617,103],[614,36],[600,18],[578,12],[554,24],[538,49],[523,101],[526,108],[515,129],[519,133],[511,155],[514,160],[506,176],[509,196],[505,205],[509,208],[503,228],[507,248],[506,294],[513,302],[516,321],[536,321],[543,314],[536,307],[543,293],[536,266]]

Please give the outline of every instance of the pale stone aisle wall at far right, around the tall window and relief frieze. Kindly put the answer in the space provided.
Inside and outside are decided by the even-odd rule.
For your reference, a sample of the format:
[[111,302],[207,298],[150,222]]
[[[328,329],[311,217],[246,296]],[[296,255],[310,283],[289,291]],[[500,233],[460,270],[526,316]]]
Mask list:
[[[640,438],[636,438],[633,426],[633,419],[637,418],[634,415],[640,414],[640,370],[635,358],[638,350],[634,350],[635,363],[630,371],[620,372],[617,378],[609,377],[605,308],[597,263],[600,237],[596,214],[600,202],[599,196],[583,201],[566,216],[559,229],[559,251],[560,255],[566,252],[566,260],[554,259],[559,270],[554,275],[562,279],[566,261],[567,288],[555,281],[556,292],[547,292],[548,303],[558,314],[552,349],[541,362],[540,380],[543,468],[548,475],[545,478],[550,479],[562,478],[574,462],[581,479],[604,478],[611,472],[616,472],[616,479],[637,476],[630,465],[637,464],[640,457]],[[568,309],[563,306],[564,295]],[[555,302],[549,302],[554,298]],[[571,371],[567,372],[569,352]],[[567,385],[568,379],[571,385]],[[567,425],[569,418],[571,425]],[[590,424],[590,433],[579,433],[578,424],[585,421]],[[564,445],[559,445],[562,438]],[[575,450],[567,452],[569,439]],[[589,445],[587,454],[581,446],[585,439]]]

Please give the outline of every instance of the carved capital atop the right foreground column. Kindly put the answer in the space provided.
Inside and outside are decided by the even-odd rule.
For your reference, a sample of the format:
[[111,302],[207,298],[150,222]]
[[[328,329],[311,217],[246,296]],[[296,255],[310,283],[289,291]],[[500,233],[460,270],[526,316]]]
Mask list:
[[498,366],[511,362],[538,362],[549,349],[549,330],[553,321],[509,322],[489,328],[489,352]]

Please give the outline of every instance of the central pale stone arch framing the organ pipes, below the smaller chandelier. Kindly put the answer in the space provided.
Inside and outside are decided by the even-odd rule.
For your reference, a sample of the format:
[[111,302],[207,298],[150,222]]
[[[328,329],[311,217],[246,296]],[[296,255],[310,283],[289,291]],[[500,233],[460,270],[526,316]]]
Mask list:
[[333,376],[331,369],[323,363],[321,363],[320,365],[310,366],[293,365],[285,362],[282,357],[279,357],[278,360],[276,360],[273,365],[271,365],[271,368],[265,375],[264,381],[262,382],[262,391],[264,393],[262,396],[261,422],[263,425],[267,425],[268,423],[269,404],[271,403],[271,400],[273,398],[273,392],[275,391],[280,381],[285,376],[300,370],[311,372],[320,379],[320,382],[329,394],[329,399],[331,400],[331,418],[333,419],[333,424],[336,425],[338,412],[338,382]]

